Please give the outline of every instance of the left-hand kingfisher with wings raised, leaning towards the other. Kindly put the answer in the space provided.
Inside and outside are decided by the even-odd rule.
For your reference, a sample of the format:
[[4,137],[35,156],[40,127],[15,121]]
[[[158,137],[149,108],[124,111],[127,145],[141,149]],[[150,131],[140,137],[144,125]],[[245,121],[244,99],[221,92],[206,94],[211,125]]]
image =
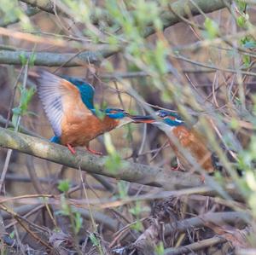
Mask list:
[[102,155],[90,149],[90,141],[133,122],[129,113],[115,108],[107,108],[102,111],[104,118],[98,118],[94,92],[92,85],[82,79],[62,78],[45,70],[38,72],[38,96],[55,133],[51,142],[67,146],[72,154],[74,147],[84,146],[90,153]]

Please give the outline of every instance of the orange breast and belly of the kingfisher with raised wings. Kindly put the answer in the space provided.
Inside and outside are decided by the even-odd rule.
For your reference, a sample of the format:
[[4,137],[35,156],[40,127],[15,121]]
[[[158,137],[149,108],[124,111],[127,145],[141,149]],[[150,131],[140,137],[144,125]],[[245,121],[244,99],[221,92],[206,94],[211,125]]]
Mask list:
[[104,119],[97,118],[84,106],[79,95],[77,99],[67,96],[63,105],[64,116],[61,121],[61,144],[63,145],[89,146],[89,142],[96,136],[113,130],[119,124],[118,120],[108,116]]

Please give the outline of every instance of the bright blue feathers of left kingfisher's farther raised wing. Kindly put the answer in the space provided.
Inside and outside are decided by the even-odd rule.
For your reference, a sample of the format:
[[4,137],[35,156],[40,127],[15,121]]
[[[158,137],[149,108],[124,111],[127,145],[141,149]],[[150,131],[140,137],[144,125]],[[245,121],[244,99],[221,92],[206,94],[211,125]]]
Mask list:
[[88,109],[94,109],[93,97],[95,90],[92,85],[86,83],[83,79],[80,78],[72,78],[65,75],[61,77],[67,79],[79,89],[82,101]]

